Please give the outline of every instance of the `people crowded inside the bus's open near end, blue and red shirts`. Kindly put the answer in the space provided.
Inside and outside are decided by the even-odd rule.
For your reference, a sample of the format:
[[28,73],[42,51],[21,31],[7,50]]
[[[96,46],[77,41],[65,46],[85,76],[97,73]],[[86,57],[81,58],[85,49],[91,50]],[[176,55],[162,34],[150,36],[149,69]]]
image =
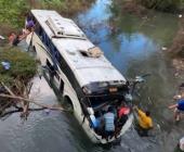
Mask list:
[[95,132],[101,135],[107,141],[115,136],[117,138],[121,127],[128,119],[130,107],[120,106],[107,106],[106,110],[97,111],[95,114],[91,114],[91,123]]

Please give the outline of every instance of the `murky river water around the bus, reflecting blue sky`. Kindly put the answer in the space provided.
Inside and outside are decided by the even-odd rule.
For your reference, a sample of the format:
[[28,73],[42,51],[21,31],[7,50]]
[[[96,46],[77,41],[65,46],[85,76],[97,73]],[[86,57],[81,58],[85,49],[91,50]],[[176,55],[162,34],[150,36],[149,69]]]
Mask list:
[[[135,104],[148,109],[154,118],[153,137],[141,138],[133,129],[121,142],[107,147],[94,145],[70,113],[32,112],[23,122],[19,114],[0,121],[2,152],[173,152],[184,136],[184,125],[173,123],[167,109],[182,78],[174,77],[171,59],[161,51],[178,30],[179,18],[154,12],[149,17],[121,14],[110,10],[110,0],[97,0],[91,8],[75,16],[87,36],[126,78],[150,73],[141,86]],[[34,79],[30,96],[48,104],[58,103],[52,88],[42,78]]]

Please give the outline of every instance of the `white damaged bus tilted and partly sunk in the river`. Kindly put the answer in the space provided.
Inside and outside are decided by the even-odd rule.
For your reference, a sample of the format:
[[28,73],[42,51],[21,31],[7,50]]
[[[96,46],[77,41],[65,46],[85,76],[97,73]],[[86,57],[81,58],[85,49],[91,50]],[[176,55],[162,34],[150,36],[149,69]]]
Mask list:
[[41,65],[49,68],[50,79],[64,101],[73,105],[74,114],[89,138],[95,143],[107,143],[122,136],[132,125],[131,111],[116,138],[105,139],[103,127],[96,130],[93,123],[103,117],[109,106],[115,113],[120,106],[127,106],[124,97],[129,86],[124,77],[71,20],[47,10],[31,10],[30,15],[35,29],[27,41]]

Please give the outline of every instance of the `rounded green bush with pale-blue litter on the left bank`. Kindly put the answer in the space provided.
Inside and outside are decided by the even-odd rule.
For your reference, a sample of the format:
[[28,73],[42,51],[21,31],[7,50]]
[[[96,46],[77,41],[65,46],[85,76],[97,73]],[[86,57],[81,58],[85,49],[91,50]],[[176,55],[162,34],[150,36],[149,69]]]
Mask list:
[[17,48],[0,49],[0,63],[10,62],[10,69],[4,69],[0,64],[0,81],[13,86],[16,81],[26,85],[36,74],[37,66],[35,60]]

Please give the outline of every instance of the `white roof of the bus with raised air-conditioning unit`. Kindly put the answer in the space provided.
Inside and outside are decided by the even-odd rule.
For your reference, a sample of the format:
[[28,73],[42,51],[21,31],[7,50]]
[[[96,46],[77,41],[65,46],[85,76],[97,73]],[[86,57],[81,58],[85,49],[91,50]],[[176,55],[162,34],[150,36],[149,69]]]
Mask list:
[[[71,20],[62,17],[55,11],[31,10],[31,13],[73,69],[81,87],[96,81],[120,80],[126,83],[124,77]],[[48,20],[55,21],[53,27],[57,31],[62,29],[64,34],[57,35],[53,31],[47,24]]]

